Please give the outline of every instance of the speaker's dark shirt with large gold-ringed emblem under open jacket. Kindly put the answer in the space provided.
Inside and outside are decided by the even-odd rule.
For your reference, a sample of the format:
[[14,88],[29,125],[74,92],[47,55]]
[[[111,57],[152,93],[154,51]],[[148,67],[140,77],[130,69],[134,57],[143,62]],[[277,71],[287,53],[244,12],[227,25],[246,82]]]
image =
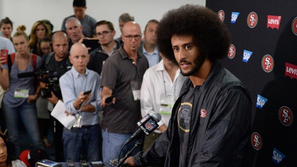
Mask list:
[[193,85],[190,87],[187,94],[182,97],[180,108],[177,113],[178,121],[178,133],[180,136],[180,162],[185,166],[184,157],[187,155],[189,132],[190,132],[190,122],[191,122],[191,112],[192,106],[194,106],[194,92],[195,89],[199,89],[200,86],[197,85],[195,88]]

